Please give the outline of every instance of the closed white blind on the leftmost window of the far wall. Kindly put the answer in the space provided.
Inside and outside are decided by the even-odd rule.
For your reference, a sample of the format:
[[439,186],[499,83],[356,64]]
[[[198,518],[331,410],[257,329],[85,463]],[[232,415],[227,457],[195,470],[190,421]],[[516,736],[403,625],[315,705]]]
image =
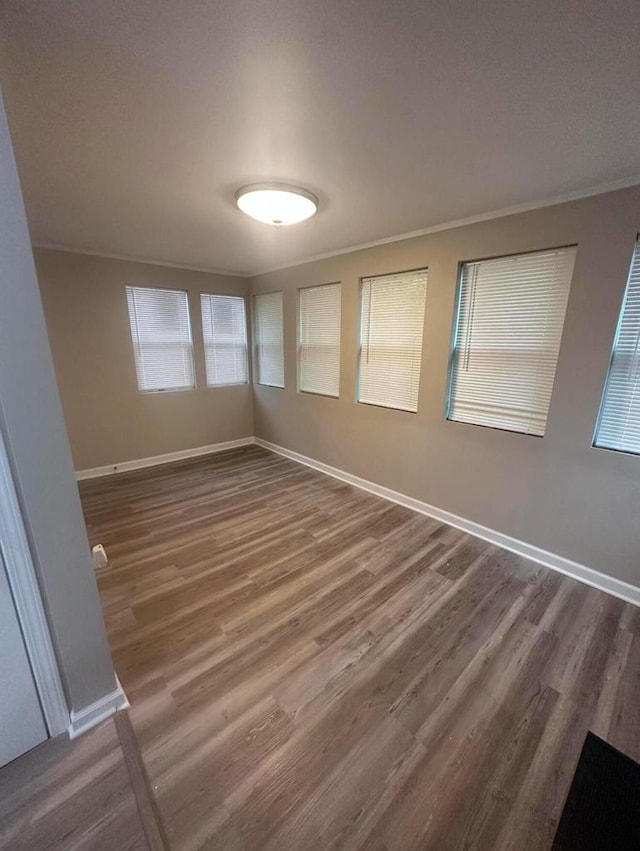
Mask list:
[[192,389],[193,345],[186,292],[127,287],[127,304],[140,390]]

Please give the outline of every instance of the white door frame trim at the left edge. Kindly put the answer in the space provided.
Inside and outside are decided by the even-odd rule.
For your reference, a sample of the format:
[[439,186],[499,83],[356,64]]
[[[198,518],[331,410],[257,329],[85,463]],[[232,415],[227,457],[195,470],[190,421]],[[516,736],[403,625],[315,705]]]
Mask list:
[[1,430],[0,547],[45,725],[54,737],[68,731],[69,708]]

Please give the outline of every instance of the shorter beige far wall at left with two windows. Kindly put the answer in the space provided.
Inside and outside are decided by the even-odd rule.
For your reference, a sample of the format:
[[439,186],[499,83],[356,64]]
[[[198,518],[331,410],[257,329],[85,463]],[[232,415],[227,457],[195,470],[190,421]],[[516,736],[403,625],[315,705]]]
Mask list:
[[[35,258],[77,470],[253,434],[251,387],[206,387],[200,320],[201,292],[245,295],[245,279],[66,251]],[[138,390],[126,284],[188,291],[195,390]]]

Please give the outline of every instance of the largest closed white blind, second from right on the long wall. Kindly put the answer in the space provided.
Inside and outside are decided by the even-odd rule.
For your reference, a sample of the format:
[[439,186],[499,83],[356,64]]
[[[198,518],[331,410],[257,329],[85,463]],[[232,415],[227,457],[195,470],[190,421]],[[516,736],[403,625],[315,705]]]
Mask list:
[[544,435],[575,254],[463,264],[450,420]]

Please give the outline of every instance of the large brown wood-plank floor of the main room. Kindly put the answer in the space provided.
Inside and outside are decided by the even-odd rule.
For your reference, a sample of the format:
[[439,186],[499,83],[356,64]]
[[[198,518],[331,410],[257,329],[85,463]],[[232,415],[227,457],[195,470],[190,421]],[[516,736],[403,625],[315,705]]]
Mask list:
[[257,447],[81,494],[173,851],[548,851],[640,759],[620,600]]

